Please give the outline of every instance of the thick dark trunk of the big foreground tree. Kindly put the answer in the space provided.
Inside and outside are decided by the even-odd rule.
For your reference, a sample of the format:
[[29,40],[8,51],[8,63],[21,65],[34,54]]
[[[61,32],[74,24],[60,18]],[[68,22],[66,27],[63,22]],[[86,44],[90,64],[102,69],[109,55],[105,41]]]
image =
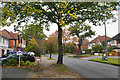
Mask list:
[[62,49],[62,28],[58,24],[58,60],[57,64],[63,64],[63,49]]

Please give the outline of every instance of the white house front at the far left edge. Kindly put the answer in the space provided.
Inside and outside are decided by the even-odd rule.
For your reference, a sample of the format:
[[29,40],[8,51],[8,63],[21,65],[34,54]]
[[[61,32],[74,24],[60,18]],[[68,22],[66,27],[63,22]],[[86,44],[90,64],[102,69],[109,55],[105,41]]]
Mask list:
[[8,48],[9,40],[0,34],[0,57],[6,54],[8,51],[13,51],[14,49]]

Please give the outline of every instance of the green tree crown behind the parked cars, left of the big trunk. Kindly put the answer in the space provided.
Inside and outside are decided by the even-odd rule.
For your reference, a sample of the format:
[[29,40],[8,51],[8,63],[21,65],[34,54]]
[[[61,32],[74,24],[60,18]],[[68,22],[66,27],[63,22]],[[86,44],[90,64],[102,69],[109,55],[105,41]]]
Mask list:
[[40,25],[25,25],[22,26],[22,30],[15,28],[16,31],[19,31],[20,35],[26,40],[28,43],[32,38],[35,38],[37,43],[40,44],[40,41],[46,37],[43,33],[43,27]]

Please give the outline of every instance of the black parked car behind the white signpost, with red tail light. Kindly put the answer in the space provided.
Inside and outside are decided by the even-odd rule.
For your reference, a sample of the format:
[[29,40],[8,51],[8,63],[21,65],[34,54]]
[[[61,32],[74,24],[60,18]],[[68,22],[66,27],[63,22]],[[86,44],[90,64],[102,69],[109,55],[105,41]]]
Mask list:
[[[16,54],[12,54],[12,55],[9,55],[8,57],[1,58],[1,61],[2,61],[2,63],[5,64],[10,59],[15,59],[17,61],[17,63],[19,62],[19,56]],[[24,62],[26,62],[26,61],[35,62],[35,56],[29,55],[29,54],[22,54],[21,59]]]

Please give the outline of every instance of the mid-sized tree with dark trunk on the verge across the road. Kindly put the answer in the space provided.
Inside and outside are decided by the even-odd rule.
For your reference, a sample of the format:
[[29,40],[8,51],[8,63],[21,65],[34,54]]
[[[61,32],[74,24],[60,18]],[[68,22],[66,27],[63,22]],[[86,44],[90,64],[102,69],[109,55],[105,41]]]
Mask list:
[[91,30],[91,26],[85,24],[85,23],[75,23],[74,25],[71,25],[69,27],[70,35],[77,36],[78,37],[78,55],[82,54],[81,51],[81,45],[83,43],[83,40],[86,37],[91,37],[91,35],[94,35],[95,32]]

